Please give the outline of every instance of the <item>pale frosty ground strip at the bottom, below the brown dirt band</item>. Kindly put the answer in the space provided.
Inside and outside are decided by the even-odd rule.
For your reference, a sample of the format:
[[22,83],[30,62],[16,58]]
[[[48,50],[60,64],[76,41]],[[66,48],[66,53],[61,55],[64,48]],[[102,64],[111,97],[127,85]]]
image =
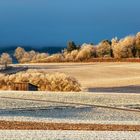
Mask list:
[[3,140],[140,140],[140,132],[1,130]]

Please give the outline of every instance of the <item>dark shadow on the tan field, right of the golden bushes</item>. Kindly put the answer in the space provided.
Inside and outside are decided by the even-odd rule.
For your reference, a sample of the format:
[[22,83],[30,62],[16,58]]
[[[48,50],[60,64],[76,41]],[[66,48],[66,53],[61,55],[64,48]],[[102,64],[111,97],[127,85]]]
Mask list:
[[95,87],[88,88],[89,92],[110,92],[110,93],[140,93],[140,86],[130,85],[121,87]]

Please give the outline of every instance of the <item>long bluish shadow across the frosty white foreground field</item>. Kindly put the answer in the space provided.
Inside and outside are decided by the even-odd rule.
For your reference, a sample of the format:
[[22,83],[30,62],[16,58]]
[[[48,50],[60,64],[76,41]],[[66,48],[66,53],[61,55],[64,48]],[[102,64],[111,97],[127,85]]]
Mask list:
[[83,114],[89,114],[94,111],[93,107],[47,107],[47,108],[25,108],[25,109],[0,109],[0,116],[26,116],[26,117],[40,117],[40,118],[82,118]]

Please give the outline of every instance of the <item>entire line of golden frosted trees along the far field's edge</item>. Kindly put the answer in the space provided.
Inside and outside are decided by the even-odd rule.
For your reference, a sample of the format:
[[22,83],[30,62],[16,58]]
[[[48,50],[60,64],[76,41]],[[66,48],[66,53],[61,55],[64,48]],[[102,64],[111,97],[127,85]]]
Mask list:
[[[117,38],[111,41],[103,40],[97,45],[77,46],[74,42],[68,42],[65,50],[52,55],[34,50],[27,52],[24,48],[18,47],[14,56],[19,63],[85,61],[90,58],[140,58],[140,33],[120,40]],[[12,58],[9,54],[3,53],[0,56],[0,64],[6,67],[9,63],[12,63]]]

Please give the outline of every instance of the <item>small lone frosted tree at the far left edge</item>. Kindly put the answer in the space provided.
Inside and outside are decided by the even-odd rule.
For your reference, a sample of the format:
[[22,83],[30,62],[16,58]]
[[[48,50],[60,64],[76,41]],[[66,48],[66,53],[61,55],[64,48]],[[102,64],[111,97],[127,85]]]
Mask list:
[[0,58],[0,63],[7,68],[8,64],[12,64],[12,58],[8,53],[3,53]]

